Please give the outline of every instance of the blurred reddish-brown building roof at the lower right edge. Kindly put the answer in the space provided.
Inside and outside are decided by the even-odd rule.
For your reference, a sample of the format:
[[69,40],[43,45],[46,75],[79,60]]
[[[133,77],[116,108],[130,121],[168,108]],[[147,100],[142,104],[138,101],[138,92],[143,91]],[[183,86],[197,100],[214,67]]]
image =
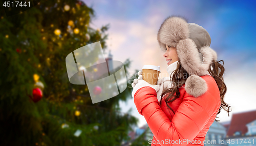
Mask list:
[[234,136],[233,134],[237,131],[240,131],[241,134],[247,133],[248,129],[246,124],[254,120],[256,120],[256,110],[234,113],[228,128],[227,136]]

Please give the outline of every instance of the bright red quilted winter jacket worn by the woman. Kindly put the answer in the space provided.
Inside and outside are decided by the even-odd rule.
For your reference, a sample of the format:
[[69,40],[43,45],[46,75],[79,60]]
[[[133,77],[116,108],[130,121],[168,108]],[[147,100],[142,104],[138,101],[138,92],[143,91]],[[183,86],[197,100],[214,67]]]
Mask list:
[[[180,87],[180,97],[168,103],[163,97],[161,107],[156,91],[149,86],[142,87],[134,95],[134,103],[144,116],[154,137],[151,145],[204,145],[205,135],[214,122],[220,108],[220,92],[216,81],[209,75],[201,76],[208,90],[195,98]],[[198,144],[199,143],[199,144]]]

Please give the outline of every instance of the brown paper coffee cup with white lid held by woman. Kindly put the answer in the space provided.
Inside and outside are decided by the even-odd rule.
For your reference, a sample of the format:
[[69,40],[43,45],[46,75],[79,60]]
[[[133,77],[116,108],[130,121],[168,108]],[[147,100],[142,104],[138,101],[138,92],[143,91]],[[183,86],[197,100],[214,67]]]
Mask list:
[[144,65],[142,68],[143,80],[152,85],[156,85],[160,72],[160,66]]

